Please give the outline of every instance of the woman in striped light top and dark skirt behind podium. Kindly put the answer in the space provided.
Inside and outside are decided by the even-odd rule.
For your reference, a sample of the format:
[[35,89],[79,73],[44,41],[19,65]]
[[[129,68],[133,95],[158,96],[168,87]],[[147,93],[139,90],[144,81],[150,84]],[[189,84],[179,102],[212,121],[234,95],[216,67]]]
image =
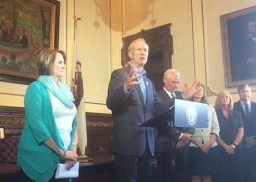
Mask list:
[[[192,101],[207,103],[204,86],[201,85]],[[208,104],[207,128],[195,128],[190,150],[188,151],[188,170],[191,181],[211,182],[212,174],[218,173],[219,123],[213,105]]]

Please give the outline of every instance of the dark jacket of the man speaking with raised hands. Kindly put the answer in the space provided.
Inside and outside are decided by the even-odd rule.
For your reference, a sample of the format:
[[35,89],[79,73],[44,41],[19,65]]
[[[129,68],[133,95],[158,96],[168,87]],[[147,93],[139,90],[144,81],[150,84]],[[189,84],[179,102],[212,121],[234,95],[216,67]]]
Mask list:
[[107,107],[112,110],[114,120],[113,152],[142,156],[147,140],[154,156],[153,128],[140,127],[138,124],[153,117],[153,110],[160,105],[160,101],[152,81],[147,77],[144,78],[147,90],[146,104],[143,101],[140,85],[134,86],[131,93],[125,93],[124,82],[129,77],[130,69],[130,65],[116,69],[109,82]]

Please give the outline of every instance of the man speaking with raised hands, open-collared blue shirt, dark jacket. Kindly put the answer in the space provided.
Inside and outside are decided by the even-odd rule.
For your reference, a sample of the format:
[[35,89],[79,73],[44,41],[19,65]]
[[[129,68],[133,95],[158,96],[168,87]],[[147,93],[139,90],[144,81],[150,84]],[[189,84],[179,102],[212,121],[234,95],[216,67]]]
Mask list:
[[138,124],[153,117],[160,101],[143,69],[148,58],[145,40],[134,40],[128,49],[131,62],[112,73],[107,97],[114,120],[115,180],[152,181],[153,128]]

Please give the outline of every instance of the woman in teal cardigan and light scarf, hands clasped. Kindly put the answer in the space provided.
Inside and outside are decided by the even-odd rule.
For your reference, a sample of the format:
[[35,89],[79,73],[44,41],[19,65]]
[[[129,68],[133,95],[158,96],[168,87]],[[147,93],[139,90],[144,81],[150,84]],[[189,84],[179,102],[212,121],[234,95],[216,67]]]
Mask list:
[[76,107],[61,80],[65,62],[65,52],[60,50],[46,49],[38,55],[40,77],[25,95],[25,124],[17,155],[21,181],[55,181],[58,163],[65,162],[70,169],[77,160]]

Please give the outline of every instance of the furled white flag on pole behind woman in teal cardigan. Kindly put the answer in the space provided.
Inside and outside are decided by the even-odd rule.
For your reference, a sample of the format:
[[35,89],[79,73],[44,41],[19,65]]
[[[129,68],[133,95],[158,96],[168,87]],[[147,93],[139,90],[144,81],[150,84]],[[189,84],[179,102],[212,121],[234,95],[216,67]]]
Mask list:
[[84,87],[82,82],[82,63],[77,54],[77,27],[76,37],[74,43],[74,63],[73,63],[73,77],[71,80],[71,92],[75,98],[75,105],[77,108],[77,134],[78,143],[81,155],[85,155],[85,148],[87,146],[87,131],[86,131],[86,117],[85,117],[85,101],[84,101]]

